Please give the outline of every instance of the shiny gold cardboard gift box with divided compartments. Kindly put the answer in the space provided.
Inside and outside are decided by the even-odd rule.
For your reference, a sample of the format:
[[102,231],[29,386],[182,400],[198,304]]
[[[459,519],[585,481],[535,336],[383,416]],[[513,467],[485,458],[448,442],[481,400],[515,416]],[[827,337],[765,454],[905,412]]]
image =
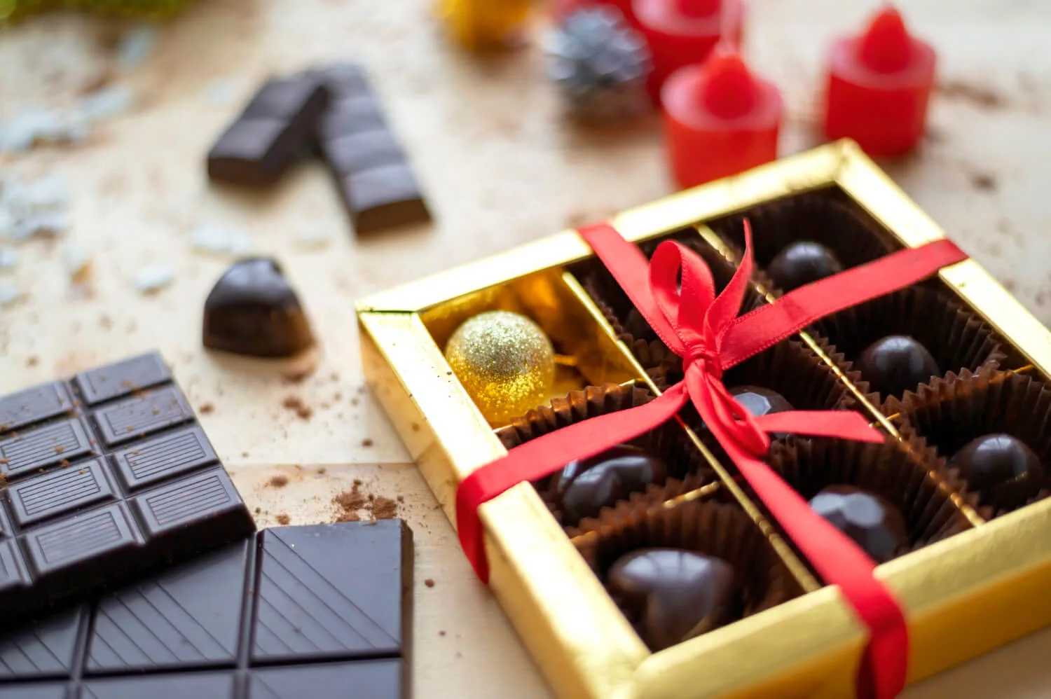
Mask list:
[[[703,222],[828,188],[839,189],[904,246],[944,238],[849,141],[624,211],[613,223],[634,242],[694,227],[719,246]],[[730,254],[725,246],[723,252]],[[648,382],[565,271],[591,255],[575,231],[563,231],[357,305],[369,384],[451,521],[457,484],[506,453],[442,355],[444,343],[465,318],[494,308],[531,315],[576,359],[576,368],[561,377],[563,392],[575,383]],[[1048,375],[1051,332],[976,262],[953,265],[940,277],[1013,345],[1006,368]],[[851,390],[874,424],[897,434],[891,422]],[[493,594],[559,697],[853,696],[866,632],[839,589],[822,587],[725,469],[710,453],[705,456],[722,477],[716,488],[728,489],[763,528],[804,594],[652,653],[530,484],[480,508]],[[686,497],[705,497],[710,490]],[[991,521],[962,498],[956,505],[970,529],[875,572],[907,615],[909,683],[1051,623],[1051,596],[1045,594],[1051,587],[1051,498]]]

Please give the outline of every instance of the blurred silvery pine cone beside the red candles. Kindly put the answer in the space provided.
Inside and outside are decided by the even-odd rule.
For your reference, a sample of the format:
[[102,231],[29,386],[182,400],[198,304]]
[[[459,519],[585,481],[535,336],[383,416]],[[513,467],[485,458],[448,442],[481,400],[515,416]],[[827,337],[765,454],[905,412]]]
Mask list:
[[651,107],[645,92],[653,69],[645,40],[616,7],[570,13],[547,38],[548,77],[576,117],[618,119]]

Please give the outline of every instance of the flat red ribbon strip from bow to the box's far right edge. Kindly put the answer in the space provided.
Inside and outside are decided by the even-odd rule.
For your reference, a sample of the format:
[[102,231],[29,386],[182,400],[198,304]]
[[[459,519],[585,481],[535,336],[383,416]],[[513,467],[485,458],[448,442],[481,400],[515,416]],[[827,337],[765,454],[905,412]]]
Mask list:
[[826,315],[904,289],[965,260],[952,241],[941,240],[802,286],[726,327],[719,346],[722,368],[740,364]]

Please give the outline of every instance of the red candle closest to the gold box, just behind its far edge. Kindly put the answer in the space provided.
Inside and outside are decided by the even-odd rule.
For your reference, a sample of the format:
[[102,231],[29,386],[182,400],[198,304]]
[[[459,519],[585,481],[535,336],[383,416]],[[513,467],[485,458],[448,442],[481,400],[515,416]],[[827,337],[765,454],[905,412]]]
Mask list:
[[672,173],[680,187],[717,180],[778,156],[781,94],[724,45],[677,70],[661,90]]

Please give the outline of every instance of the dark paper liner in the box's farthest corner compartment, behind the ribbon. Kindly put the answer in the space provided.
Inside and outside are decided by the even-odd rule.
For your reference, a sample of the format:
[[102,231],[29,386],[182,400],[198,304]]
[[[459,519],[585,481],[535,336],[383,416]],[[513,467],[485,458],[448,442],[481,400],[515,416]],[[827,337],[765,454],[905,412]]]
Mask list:
[[[770,264],[785,246],[799,241],[821,243],[834,252],[847,269],[878,260],[901,247],[893,244],[875,222],[831,191],[798,194],[708,222],[738,258],[744,250],[745,218],[751,224],[753,252],[760,267]],[[778,295],[781,293],[776,288],[771,290]]]

